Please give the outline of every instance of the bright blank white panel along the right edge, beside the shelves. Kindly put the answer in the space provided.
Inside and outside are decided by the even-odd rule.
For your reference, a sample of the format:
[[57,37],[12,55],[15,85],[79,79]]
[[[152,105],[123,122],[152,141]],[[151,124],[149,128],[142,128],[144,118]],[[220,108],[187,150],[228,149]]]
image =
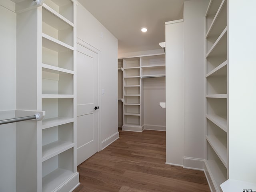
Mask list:
[[229,178],[252,183],[256,183],[255,7],[255,0],[228,1]]

